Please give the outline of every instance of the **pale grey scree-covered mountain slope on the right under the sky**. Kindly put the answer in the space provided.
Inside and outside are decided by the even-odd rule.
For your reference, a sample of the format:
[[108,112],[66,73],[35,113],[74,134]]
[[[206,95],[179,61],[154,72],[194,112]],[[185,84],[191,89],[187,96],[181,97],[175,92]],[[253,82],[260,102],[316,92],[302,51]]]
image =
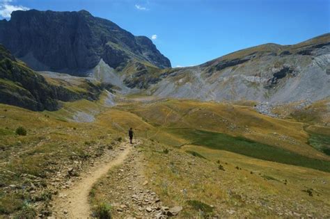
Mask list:
[[[135,79],[136,80],[136,79]],[[195,67],[162,70],[146,93],[203,101],[311,101],[330,97],[330,34],[262,44]]]

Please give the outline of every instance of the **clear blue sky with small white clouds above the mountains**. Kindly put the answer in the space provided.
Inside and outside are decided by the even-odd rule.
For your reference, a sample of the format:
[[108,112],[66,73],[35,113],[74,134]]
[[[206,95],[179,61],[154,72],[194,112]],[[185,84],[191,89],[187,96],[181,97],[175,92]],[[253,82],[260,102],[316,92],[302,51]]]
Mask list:
[[88,10],[146,35],[173,67],[199,65],[274,42],[295,44],[330,32],[330,0],[0,0],[13,10]]

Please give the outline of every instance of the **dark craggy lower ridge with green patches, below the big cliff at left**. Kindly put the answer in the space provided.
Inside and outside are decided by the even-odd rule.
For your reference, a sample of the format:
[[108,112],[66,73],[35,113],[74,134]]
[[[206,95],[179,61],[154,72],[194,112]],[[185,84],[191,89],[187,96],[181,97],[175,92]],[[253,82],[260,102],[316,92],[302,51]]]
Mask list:
[[33,111],[55,111],[61,108],[58,100],[98,99],[104,88],[93,79],[75,77],[74,83],[68,78],[45,79],[0,45],[0,103]]

